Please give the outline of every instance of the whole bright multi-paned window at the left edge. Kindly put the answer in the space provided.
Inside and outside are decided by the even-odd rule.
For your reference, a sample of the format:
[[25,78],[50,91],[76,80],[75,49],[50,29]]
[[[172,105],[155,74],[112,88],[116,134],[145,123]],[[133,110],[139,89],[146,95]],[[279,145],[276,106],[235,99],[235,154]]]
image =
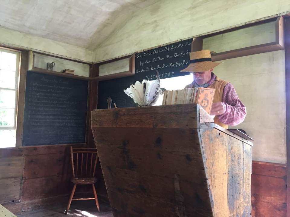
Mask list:
[[0,148],[15,146],[20,52],[0,49]]

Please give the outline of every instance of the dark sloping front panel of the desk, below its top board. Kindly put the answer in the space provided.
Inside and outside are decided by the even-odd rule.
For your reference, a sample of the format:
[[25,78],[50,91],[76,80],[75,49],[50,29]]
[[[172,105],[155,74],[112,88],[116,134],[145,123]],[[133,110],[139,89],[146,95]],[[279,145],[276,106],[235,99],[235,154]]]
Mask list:
[[[146,206],[154,206],[152,209],[157,209],[156,204],[163,208],[177,206],[179,212],[185,209],[187,213],[212,216],[196,130],[141,127],[96,127],[94,130],[112,207],[136,215],[134,210],[151,201],[154,205]],[[129,210],[116,199],[119,194],[131,206]],[[159,208],[144,210],[148,216],[159,216],[161,212]],[[167,216],[174,215],[175,211]]]

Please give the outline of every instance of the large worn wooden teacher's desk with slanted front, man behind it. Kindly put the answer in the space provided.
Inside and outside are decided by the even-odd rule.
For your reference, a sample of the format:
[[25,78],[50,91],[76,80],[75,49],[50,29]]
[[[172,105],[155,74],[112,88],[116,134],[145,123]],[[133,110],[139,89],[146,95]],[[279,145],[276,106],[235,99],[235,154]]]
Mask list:
[[196,104],[92,111],[114,217],[251,216],[253,143]]

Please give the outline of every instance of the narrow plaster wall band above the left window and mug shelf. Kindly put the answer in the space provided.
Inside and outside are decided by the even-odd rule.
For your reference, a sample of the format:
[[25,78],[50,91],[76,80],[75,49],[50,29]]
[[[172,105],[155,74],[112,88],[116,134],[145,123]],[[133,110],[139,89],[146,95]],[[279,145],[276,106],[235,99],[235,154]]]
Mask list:
[[47,52],[63,57],[92,62],[92,51],[63,42],[45,39],[0,27],[0,45],[17,46],[39,52]]

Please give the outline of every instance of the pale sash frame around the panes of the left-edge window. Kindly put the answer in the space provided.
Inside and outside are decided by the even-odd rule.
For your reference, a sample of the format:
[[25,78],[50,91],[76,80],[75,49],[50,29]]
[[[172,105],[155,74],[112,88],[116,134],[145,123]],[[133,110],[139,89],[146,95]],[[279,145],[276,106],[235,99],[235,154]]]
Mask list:
[[0,87],[0,90],[14,90],[15,91],[14,124],[13,124],[13,126],[0,126],[0,130],[16,130],[17,103],[18,103],[18,79],[19,79],[19,71],[20,71],[20,55],[21,55],[21,52],[12,51],[10,49],[3,49],[1,47],[0,47],[0,52],[16,54],[15,86],[14,86],[14,89]]

